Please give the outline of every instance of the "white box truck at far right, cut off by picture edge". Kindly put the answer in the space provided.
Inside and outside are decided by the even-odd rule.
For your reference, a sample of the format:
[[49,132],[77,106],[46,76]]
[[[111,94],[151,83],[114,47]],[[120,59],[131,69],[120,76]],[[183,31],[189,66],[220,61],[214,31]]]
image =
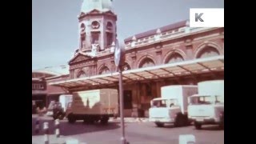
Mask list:
[[196,129],[207,124],[224,127],[224,80],[198,82],[198,94],[189,99],[189,119]]

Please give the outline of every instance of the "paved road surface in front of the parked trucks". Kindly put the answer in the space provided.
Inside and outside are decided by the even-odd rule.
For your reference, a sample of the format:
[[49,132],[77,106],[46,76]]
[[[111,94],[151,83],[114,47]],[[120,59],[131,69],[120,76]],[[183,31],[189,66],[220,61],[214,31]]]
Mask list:
[[[61,138],[55,138],[54,121],[51,118],[42,118],[50,125],[50,143],[63,143],[66,139],[75,138],[86,144],[120,144],[121,127],[119,122],[110,122],[106,126],[100,124],[87,125],[81,122],[69,124],[61,121]],[[35,118],[32,117],[32,142],[43,143],[43,132],[34,134]],[[224,144],[224,130],[218,126],[203,126],[203,130],[194,130],[194,126],[175,128],[171,125],[158,128],[151,122],[126,122],[126,139],[130,144],[178,144],[180,134],[194,134],[197,144]]]

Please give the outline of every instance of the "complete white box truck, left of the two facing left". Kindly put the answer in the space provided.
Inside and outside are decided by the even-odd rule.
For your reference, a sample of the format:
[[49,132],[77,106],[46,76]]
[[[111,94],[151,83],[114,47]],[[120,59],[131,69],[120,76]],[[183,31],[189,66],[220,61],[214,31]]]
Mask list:
[[174,126],[188,125],[187,100],[193,94],[198,94],[198,86],[162,86],[161,98],[154,98],[150,102],[150,122],[158,127],[165,123],[174,123]]

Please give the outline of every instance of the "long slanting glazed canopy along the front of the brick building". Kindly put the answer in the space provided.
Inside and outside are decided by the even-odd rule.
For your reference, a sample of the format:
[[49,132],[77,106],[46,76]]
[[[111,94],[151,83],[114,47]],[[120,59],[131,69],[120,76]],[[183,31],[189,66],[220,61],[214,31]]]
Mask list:
[[[151,66],[136,70],[126,70],[122,72],[123,81],[134,82],[151,80],[158,78],[178,78],[184,75],[214,73],[224,71],[224,56],[211,58],[199,58],[185,62],[175,62],[161,66]],[[92,77],[75,78],[61,82],[50,82],[53,86],[74,88],[80,86],[101,86],[117,83],[119,73],[101,74]]]

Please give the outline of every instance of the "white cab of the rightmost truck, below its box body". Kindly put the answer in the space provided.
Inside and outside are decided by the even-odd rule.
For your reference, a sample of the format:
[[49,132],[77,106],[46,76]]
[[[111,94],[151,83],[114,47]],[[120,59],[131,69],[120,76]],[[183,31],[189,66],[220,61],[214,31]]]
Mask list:
[[197,130],[207,124],[216,124],[223,128],[224,102],[222,102],[222,96],[194,94],[188,99],[188,118],[194,122]]

